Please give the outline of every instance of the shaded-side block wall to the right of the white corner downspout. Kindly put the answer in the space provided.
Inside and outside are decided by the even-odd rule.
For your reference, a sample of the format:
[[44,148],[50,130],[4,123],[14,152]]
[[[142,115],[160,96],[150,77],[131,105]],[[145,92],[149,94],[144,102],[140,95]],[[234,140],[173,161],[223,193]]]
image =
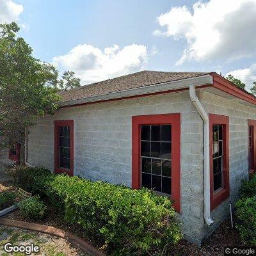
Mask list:
[[230,202],[234,207],[239,197],[241,180],[248,179],[248,119],[256,119],[256,109],[203,90],[200,91],[199,97],[208,113],[229,116],[230,132],[230,197],[211,212],[214,225],[205,225],[203,233],[207,237],[228,216]]

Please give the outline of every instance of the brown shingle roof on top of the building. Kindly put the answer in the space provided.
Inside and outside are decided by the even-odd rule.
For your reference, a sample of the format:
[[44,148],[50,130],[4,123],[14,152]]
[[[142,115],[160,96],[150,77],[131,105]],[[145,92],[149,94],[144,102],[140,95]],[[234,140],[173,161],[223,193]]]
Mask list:
[[111,92],[121,92],[152,84],[166,83],[207,74],[210,74],[210,72],[161,72],[145,70],[60,92],[61,102],[83,99]]

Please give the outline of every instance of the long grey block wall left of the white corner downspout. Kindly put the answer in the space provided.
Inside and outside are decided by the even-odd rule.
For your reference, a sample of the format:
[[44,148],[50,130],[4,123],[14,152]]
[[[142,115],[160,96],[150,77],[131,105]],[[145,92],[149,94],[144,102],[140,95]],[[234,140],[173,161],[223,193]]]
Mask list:
[[203,122],[189,92],[166,93],[60,109],[29,128],[28,162],[54,169],[54,120],[74,119],[74,175],[131,186],[132,116],[180,113],[183,230],[199,241],[204,229]]

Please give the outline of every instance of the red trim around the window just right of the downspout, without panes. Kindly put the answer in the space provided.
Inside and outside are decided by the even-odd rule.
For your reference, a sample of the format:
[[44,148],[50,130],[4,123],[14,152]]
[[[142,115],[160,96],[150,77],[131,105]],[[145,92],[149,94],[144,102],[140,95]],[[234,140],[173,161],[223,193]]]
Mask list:
[[[209,114],[209,129],[210,129],[210,189],[211,189],[211,211],[226,200],[229,196],[229,118],[223,115]],[[213,168],[212,168],[212,125],[223,125],[223,189],[214,193],[213,191]]]

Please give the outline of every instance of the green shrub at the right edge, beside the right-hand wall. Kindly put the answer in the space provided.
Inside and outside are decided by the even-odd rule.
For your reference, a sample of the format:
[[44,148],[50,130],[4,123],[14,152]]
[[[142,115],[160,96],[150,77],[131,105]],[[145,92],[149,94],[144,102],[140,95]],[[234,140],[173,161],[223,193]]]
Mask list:
[[256,175],[244,180],[236,203],[236,228],[245,244],[256,245]]

